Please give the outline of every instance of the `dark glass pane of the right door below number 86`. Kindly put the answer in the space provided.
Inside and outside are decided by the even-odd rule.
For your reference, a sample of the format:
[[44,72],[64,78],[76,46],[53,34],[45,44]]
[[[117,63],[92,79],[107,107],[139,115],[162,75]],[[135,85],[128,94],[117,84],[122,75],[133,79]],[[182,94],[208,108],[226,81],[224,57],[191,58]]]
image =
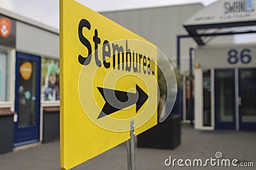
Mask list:
[[256,69],[240,72],[242,122],[256,122]]

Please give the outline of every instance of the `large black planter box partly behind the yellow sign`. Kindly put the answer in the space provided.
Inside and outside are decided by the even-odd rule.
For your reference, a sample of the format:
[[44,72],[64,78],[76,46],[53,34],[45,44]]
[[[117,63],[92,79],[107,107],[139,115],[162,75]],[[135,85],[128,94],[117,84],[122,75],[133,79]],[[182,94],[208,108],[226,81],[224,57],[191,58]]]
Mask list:
[[180,115],[170,115],[138,136],[139,148],[175,149],[180,145]]

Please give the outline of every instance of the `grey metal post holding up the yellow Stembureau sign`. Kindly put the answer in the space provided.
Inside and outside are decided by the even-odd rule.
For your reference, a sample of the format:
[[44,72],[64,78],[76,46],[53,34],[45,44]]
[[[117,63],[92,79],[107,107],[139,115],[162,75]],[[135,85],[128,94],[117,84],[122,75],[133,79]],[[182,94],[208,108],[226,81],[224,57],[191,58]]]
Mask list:
[[135,147],[134,147],[134,122],[131,120],[130,139],[127,141],[127,167],[128,170],[135,170]]

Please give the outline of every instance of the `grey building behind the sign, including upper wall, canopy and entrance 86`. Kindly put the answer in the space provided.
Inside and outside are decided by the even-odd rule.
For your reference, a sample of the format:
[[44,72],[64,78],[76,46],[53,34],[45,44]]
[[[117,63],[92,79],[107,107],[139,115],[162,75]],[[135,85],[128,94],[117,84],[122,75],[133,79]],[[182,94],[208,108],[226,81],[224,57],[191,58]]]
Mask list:
[[[179,109],[174,112],[184,122],[196,129],[255,131],[255,44],[253,34],[247,35],[250,44],[244,38],[241,44],[238,35],[255,35],[255,6],[255,0],[221,0],[207,7],[186,4],[102,15],[152,41],[173,67],[180,45],[179,71],[184,81],[175,104]],[[184,36],[179,45],[177,36]]]

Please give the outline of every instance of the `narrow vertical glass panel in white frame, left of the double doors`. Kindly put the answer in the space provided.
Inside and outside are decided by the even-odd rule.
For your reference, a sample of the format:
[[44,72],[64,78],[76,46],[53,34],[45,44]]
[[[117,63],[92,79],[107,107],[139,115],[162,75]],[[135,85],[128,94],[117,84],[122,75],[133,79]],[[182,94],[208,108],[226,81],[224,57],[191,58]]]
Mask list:
[[204,83],[204,126],[211,126],[211,70],[203,73]]

